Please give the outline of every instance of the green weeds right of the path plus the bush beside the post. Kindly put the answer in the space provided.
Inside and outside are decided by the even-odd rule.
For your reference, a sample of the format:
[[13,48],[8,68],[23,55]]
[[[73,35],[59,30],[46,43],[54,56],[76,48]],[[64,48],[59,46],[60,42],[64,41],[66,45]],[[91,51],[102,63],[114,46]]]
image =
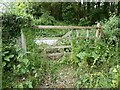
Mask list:
[[114,31],[117,26],[117,17],[111,16],[103,25],[103,31],[107,35],[105,39],[95,39],[94,42],[92,40],[78,41],[75,38],[73,39],[74,53],[71,63],[76,65],[78,77],[76,87],[118,87],[119,38],[116,36],[118,33]]

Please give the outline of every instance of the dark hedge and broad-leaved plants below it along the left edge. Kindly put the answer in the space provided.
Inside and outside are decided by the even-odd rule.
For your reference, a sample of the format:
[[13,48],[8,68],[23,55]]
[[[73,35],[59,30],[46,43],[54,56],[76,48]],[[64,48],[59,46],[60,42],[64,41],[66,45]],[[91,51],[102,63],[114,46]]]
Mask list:
[[[16,44],[16,40],[21,34],[21,29],[29,26],[30,22],[29,16],[12,13],[2,15],[2,71],[5,74],[3,87],[14,86],[16,77],[22,77],[29,72],[29,60],[26,53]],[[7,74],[9,76],[6,79]]]

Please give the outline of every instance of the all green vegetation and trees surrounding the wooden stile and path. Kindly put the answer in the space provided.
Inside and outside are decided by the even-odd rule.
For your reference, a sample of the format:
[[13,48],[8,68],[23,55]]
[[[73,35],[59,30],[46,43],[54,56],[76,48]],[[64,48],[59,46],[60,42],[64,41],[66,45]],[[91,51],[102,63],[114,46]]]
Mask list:
[[[119,3],[84,2],[14,2],[6,3],[2,17],[2,85],[3,88],[35,88],[49,76],[58,80],[58,69],[72,66],[75,70],[75,88],[117,88],[120,80],[120,23]],[[72,54],[52,61],[45,57],[33,41],[36,37],[60,37],[69,30],[34,29],[34,25],[102,25],[101,39],[78,39],[75,32],[71,41]],[[27,52],[17,44],[21,31],[26,36]],[[93,32],[92,32],[93,31]],[[79,31],[83,36],[85,29]],[[91,36],[94,36],[91,30]],[[85,36],[84,36],[85,37]]]

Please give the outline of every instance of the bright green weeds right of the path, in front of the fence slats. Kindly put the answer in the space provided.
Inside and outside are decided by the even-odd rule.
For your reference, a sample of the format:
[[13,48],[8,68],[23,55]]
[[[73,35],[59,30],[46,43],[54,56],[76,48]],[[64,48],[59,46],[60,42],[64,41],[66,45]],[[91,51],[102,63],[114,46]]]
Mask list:
[[[118,46],[102,40],[94,42],[94,47],[88,41],[74,47],[73,63],[77,65],[77,87],[117,87],[118,73]],[[116,42],[117,44],[117,42]],[[104,83],[103,83],[104,82]]]

